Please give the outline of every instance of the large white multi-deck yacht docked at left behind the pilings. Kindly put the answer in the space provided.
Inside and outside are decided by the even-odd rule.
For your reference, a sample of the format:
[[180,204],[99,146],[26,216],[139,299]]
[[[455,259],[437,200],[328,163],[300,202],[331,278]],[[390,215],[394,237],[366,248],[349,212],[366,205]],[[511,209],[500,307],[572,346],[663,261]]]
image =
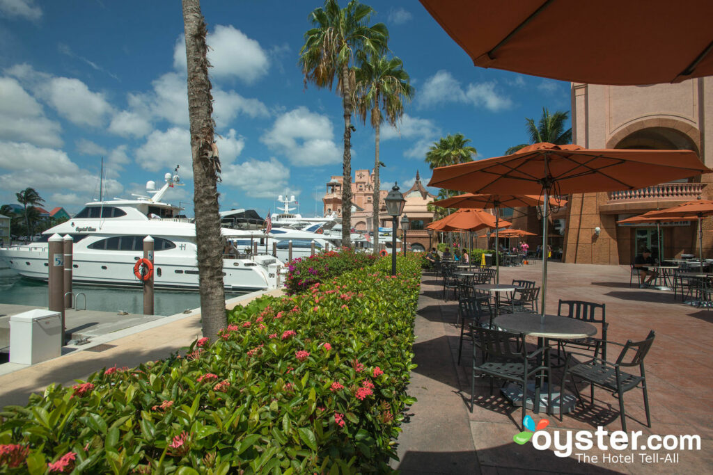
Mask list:
[[[73,283],[101,286],[140,286],[134,276],[135,261],[143,255],[143,239],[154,239],[154,285],[156,288],[198,290],[198,261],[193,220],[175,217],[180,208],[160,202],[168,189],[178,185],[175,174],[165,175],[165,184],[153,197],[114,199],[86,204],[72,219],[43,233],[44,242],[0,249],[0,259],[22,276],[46,281],[47,239],[53,234],[70,235],[73,244]],[[248,236],[250,231],[222,229],[227,239]],[[271,251],[271,250],[270,250]],[[225,254],[223,281],[228,291],[277,288],[282,263],[265,254]]]

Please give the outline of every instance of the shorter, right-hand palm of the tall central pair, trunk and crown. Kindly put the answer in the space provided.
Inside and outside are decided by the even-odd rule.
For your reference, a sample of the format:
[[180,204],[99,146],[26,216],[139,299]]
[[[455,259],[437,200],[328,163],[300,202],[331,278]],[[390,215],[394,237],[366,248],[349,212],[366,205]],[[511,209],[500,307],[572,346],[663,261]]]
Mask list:
[[[356,114],[366,123],[366,116],[371,117],[371,127],[376,135],[374,154],[374,254],[379,252],[379,130],[386,119],[391,125],[404,115],[404,102],[414,97],[414,88],[409,83],[409,74],[404,71],[404,63],[399,58],[386,56],[369,57],[356,70],[356,88],[354,102]],[[381,114],[381,109],[384,114]]]

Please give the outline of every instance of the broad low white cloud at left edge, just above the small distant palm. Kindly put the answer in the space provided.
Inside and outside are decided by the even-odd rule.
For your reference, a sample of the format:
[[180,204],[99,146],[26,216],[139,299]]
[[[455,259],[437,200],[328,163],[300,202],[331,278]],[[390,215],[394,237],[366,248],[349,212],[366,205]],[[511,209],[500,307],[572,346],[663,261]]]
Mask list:
[[[27,143],[0,142],[0,169],[6,170],[0,174],[0,189],[34,187],[41,195],[71,189],[83,202],[88,202],[93,194],[98,197],[99,177],[81,169],[61,150]],[[104,179],[103,186],[107,194],[123,190],[116,179]]]

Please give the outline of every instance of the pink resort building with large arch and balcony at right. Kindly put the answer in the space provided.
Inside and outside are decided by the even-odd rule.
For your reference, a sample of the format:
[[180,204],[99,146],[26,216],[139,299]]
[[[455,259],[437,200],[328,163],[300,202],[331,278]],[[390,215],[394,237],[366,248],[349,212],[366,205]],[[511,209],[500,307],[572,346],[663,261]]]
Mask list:
[[[677,84],[612,86],[572,84],[572,141],[586,148],[693,150],[713,166],[713,78]],[[553,216],[555,236],[550,242],[572,263],[627,264],[643,248],[658,255],[657,228],[625,226],[620,219],[713,196],[710,174],[657,184],[641,190],[572,194]],[[524,210],[523,210],[524,211]],[[538,209],[515,217],[515,227],[541,234]],[[710,255],[713,233],[703,220],[704,258]],[[550,228],[551,229],[551,228]],[[666,258],[698,255],[697,221],[662,224]],[[538,239],[528,239],[530,246]]]

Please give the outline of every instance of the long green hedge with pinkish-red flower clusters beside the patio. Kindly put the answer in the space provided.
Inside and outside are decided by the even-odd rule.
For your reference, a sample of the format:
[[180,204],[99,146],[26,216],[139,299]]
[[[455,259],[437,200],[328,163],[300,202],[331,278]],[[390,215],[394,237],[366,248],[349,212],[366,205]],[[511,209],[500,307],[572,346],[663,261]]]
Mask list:
[[[0,413],[0,472],[373,473],[395,457],[419,259],[229,313],[216,342]],[[13,468],[13,466],[17,464]]]

